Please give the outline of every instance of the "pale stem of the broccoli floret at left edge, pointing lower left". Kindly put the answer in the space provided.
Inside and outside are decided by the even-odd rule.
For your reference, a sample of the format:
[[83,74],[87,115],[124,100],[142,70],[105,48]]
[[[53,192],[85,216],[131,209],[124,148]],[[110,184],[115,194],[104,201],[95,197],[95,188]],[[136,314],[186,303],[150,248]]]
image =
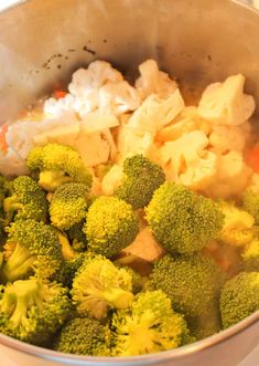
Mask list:
[[11,282],[22,279],[33,266],[34,261],[35,258],[31,255],[30,251],[18,243],[3,266],[3,275]]

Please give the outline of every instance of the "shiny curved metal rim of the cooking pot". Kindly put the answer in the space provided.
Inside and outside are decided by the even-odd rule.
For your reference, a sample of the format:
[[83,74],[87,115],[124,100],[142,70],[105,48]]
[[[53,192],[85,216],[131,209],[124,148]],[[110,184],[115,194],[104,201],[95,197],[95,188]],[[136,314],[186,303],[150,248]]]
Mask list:
[[[25,2],[33,1],[33,0],[18,0],[15,3],[2,9],[0,11],[0,14],[3,12],[8,12],[13,8],[20,7]],[[244,3],[239,0],[229,0],[230,2],[234,2],[240,7],[247,8],[250,11],[257,13],[259,15],[259,10],[251,7],[248,3]],[[107,364],[123,364],[123,365],[144,365],[144,364],[154,364],[157,362],[166,362],[169,359],[181,359],[185,357],[186,355],[192,355],[192,354],[198,354],[199,352],[207,349],[214,345],[218,345],[222,343],[225,343],[229,338],[234,337],[236,334],[241,333],[246,328],[256,325],[258,323],[259,325],[259,310],[251,314],[250,316],[246,317],[241,322],[235,324],[234,326],[220,331],[219,333],[209,336],[207,338],[204,338],[202,341],[192,343],[186,346],[182,346],[179,348],[174,348],[171,351],[163,351],[160,353],[155,354],[147,354],[147,355],[141,355],[141,356],[123,356],[123,357],[96,357],[96,356],[80,356],[80,355],[73,355],[73,354],[65,354],[39,346],[34,346],[21,341],[18,341],[15,338],[9,337],[7,335],[0,334],[0,345],[7,346],[9,348],[12,348],[14,351],[35,356],[37,358],[43,358],[47,360],[53,360],[53,362],[60,362],[60,363],[65,363],[65,364],[73,364],[73,365],[82,365],[84,363],[85,365],[93,365],[95,364],[101,364],[101,365],[107,365]]]

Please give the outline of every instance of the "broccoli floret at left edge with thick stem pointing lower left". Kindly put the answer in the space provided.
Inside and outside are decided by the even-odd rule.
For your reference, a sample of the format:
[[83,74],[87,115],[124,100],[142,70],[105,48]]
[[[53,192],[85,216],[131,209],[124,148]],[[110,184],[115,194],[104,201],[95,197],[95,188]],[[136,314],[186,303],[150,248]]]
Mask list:
[[28,279],[56,280],[63,265],[61,244],[54,230],[43,222],[19,220],[8,228],[7,259],[2,272],[8,281]]

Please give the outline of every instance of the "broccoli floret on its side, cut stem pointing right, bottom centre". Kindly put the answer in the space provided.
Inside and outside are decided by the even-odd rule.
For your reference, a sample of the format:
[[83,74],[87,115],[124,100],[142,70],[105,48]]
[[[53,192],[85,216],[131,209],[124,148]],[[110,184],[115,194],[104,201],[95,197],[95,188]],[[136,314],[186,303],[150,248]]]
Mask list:
[[100,255],[85,260],[73,281],[72,296],[84,316],[104,318],[110,309],[128,307],[132,300],[132,278]]

